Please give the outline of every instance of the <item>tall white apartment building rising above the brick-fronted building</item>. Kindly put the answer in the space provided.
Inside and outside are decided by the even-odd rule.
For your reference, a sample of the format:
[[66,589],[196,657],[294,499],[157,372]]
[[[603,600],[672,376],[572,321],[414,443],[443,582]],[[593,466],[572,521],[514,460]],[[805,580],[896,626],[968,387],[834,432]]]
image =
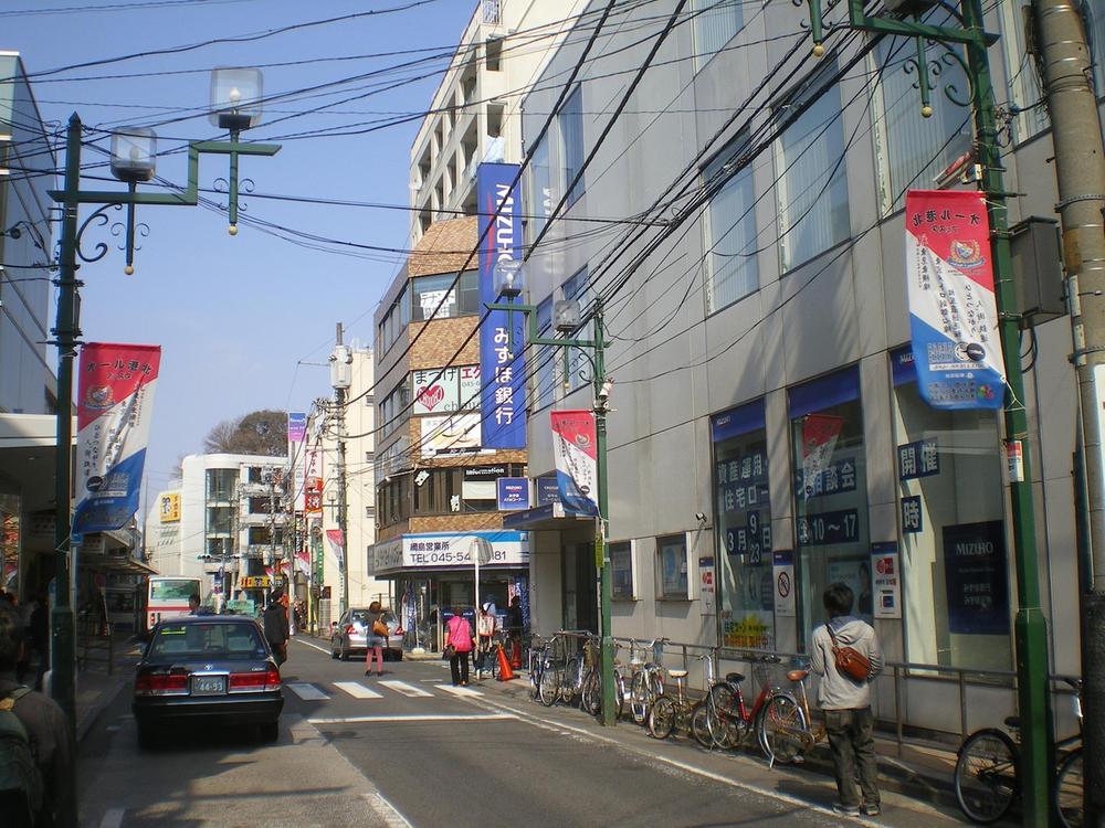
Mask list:
[[411,247],[431,223],[476,212],[481,161],[522,160],[522,97],[585,6],[477,2],[411,145]]

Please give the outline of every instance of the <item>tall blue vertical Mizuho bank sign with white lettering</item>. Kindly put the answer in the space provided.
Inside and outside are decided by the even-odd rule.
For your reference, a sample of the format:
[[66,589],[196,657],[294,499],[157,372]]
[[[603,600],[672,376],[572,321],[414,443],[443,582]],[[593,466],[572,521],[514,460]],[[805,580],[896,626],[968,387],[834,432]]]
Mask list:
[[[498,299],[496,263],[520,258],[522,193],[520,188],[511,189],[518,169],[516,163],[482,163],[476,173],[481,305]],[[526,447],[525,349],[526,315],[491,311],[480,328],[480,444],[484,448]]]

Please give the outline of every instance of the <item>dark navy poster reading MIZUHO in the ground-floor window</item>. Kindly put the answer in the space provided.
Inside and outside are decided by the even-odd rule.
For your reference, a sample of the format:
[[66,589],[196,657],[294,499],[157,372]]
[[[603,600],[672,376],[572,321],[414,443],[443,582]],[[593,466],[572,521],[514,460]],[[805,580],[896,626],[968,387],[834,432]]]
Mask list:
[[948,631],[1009,635],[1009,574],[1000,520],[944,528]]

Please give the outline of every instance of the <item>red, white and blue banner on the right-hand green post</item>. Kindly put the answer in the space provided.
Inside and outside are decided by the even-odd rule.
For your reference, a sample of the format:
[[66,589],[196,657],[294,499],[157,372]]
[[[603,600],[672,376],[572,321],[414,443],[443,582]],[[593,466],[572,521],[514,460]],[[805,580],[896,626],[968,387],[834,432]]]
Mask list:
[[983,195],[911,190],[905,216],[917,388],[934,408],[1000,408],[1006,372]]

